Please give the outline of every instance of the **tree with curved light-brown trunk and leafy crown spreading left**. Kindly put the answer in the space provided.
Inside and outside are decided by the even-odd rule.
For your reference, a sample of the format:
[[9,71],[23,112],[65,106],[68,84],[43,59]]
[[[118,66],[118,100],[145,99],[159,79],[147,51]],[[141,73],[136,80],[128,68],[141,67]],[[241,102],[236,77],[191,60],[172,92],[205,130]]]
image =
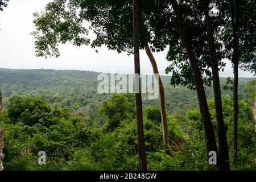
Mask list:
[[[141,1],[143,9],[139,14],[140,42],[141,49],[145,49],[148,58],[151,62],[153,72],[159,74],[158,66],[152,51],[163,51],[166,44],[160,44],[152,39],[150,35],[150,28],[147,26],[145,17],[148,11],[153,10],[152,7],[156,6],[154,1]],[[146,7],[145,7],[145,6]],[[164,3],[166,5],[166,3]],[[158,5],[160,6],[160,5]],[[71,41],[76,46],[81,44],[88,45],[89,39],[82,38],[82,34],[88,34],[82,21],[90,22],[90,27],[96,34],[96,39],[90,44],[93,48],[106,45],[109,49],[113,49],[119,52],[127,52],[128,55],[133,53],[133,27],[132,27],[132,3],[131,1],[76,1],[73,0],[68,4],[68,9],[64,8],[65,3],[63,1],[54,1],[49,3],[46,8],[46,12],[42,15],[35,14],[34,23],[37,27],[37,31],[32,34],[35,36],[36,41],[36,55],[38,56],[59,56],[59,51],[56,45],[59,43],[65,43]],[[160,8],[163,8],[161,5]],[[80,13],[74,14],[74,10]],[[158,10],[154,10],[155,12]],[[54,12],[53,12],[54,11]],[[154,19],[153,17],[150,18]],[[47,21],[47,22],[46,22]],[[42,26],[43,23],[47,23]],[[43,32],[43,36],[42,33]],[[72,33],[74,32],[74,33]],[[158,48],[148,46],[150,44],[158,44]],[[151,51],[152,49],[152,51]],[[162,80],[159,77],[159,105],[161,111],[161,121],[163,126],[163,141],[164,146],[169,146],[168,139],[168,126],[166,119],[166,106],[164,101],[164,88]]]

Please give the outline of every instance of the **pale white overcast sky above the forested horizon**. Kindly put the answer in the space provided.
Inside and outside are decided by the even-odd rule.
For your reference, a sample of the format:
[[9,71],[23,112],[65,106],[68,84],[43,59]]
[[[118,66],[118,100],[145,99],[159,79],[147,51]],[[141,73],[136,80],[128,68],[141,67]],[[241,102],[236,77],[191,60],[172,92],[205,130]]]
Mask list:
[[[133,73],[133,55],[108,51],[106,47],[95,49],[89,46],[75,47],[72,44],[60,45],[60,57],[36,57],[34,38],[30,33],[35,30],[32,13],[42,11],[51,0],[10,0],[9,6],[0,12],[0,68],[13,69],[77,69],[96,72]],[[93,35],[92,35],[93,38]],[[146,53],[141,50],[141,73],[150,74],[152,68]],[[169,62],[166,60],[167,50],[154,53],[159,72]],[[232,65],[227,66],[221,77],[233,77]],[[240,77],[253,77],[250,72],[240,71]]]

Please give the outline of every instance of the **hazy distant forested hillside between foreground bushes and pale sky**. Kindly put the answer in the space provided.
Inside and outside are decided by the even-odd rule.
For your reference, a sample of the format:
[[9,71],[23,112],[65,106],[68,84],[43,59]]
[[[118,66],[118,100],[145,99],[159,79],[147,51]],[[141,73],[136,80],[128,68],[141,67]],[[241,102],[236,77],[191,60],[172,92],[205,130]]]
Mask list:
[[[14,95],[42,96],[53,107],[67,106],[72,111],[81,107],[96,109],[109,94],[97,93],[97,72],[56,71],[50,69],[0,69],[0,89],[4,105]],[[246,99],[246,83],[255,78],[240,78],[240,98]],[[196,92],[170,85],[170,76],[162,76],[169,113],[184,113],[197,105]],[[221,78],[221,85],[226,78]],[[226,94],[230,92],[222,91]],[[208,97],[213,97],[212,88],[207,88]],[[158,100],[143,100],[144,105],[158,105]]]

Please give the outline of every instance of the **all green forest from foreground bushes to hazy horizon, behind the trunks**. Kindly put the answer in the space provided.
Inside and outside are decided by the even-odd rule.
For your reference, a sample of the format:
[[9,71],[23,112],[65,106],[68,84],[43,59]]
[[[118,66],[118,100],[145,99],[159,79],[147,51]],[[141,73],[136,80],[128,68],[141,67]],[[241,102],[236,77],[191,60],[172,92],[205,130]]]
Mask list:
[[[138,140],[134,94],[98,94],[96,72],[0,70],[4,109],[5,170],[137,170]],[[150,170],[205,170],[204,131],[196,93],[172,88],[162,77],[167,103],[170,148],[162,146],[158,100],[143,100],[144,137]],[[221,85],[226,79],[221,78]],[[252,113],[255,78],[240,79],[238,157],[231,169],[254,170],[255,132]],[[226,85],[227,86],[227,85]],[[206,89],[216,130],[212,88]],[[232,152],[231,91],[222,104],[229,150]],[[146,98],[146,97],[144,97]],[[47,164],[38,164],[46,151]]]

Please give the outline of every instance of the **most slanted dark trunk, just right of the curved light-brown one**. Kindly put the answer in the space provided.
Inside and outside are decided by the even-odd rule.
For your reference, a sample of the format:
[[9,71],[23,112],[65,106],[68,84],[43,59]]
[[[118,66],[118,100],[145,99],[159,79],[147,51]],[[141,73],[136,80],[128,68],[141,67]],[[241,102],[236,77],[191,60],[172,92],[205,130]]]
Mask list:
[[[204,84],[202,75],[199,69],[199,65],[197,64],[195,53],[193,52],[192,43],[189,39],[187,28],[185,27],[183,15],[179,9],[179,5],[176,0],[171,0],[172,8],[176,14],[177,23],[179,24],[181,39],[184,44],[184,47],[187,51],[188,59],[191,64],[191,68],[193,71],[193,77],[195,78],[197,98],[199,101],[200,113],[203,118],[204,123],[204,132],[205,132],[205,143],[207,146],[207,154],[210,151],[216,151],[217,153],[217,163],[218,163],[218,150],[216,145],[216,140],[214,137],[214,131],[212,126],[212,121],[210,118],[210,113],[207,105],[207,98],[205,96]],[[207,155],[208,156],[208,155]],[[209,158],[209,156],[208,156]]]

